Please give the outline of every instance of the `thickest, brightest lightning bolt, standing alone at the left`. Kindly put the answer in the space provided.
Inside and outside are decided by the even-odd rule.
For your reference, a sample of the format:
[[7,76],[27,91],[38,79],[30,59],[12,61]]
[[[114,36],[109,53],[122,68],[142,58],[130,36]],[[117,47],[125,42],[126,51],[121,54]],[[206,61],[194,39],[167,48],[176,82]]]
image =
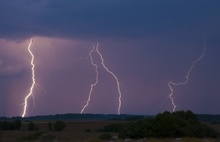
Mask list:
[[26,116],[26,113],[27,113],[27,106],[28,106],[28,99],[29,97],[32,96],[33,94],[33,89],[34,89],[34,86],[36,85],[36,81],[35,81],[35,65],[34,65],[34,54],[32,53],[31,51],[31,45],[33,43],[33,39],[30,40],[29,42],[29,45],[28,45],[28,52],[30,53],[31,55],[31,66],[32,66],[32,85],[31,85],[31,88],[30,88],[30,91],[28,93],[28,95],[25,97],[24,99],[24,110],[23,110],[23,114],[22,114],[22,117],[25,117]]

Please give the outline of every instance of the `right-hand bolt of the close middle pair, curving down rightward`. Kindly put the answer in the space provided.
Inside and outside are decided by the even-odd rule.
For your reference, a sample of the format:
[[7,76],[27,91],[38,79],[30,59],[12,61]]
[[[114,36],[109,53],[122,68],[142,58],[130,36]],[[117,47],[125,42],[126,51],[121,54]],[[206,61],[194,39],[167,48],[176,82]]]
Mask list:
[[118,114],[121,114],[121,103],[122,103],[122,102],[121,102],[121,98],[122,98],[122,93],[121,93],[121,88],[120,88],[119,80],[118,80],[117,76],[116,76],[112,71],[110,71],[110,70],[108,69],[108,67],[105,65],[104,58],[103,58],[102,54],[101,54],[100,51],[99,51],[99,43],[98,43],[97,46],[96,46],[96,52],[99,54],[99,56],[100,56],[100,58],[101,58],[101,60],[102,60],[102,66],[103,66],[103,68],[104,68],[109,74],[111,74],[111,75],[114,77],[114,79],[115,79],[115,81],[116,81],[116,83],[117,83],[117,89],[118,89],[118,94],[119,94],[119,98],[118,98],[118,103],[119,103],[119,105],[118,105]]

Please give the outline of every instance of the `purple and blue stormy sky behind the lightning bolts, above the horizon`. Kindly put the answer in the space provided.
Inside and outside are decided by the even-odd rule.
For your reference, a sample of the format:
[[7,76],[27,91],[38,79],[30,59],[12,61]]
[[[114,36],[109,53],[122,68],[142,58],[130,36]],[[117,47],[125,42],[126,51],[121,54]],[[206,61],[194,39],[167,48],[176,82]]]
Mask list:
[[[0,0],[0,116],[21,116],[31,87],[31,50],[37,85],[27,116],[80,113],[95,68],[88,56],[99,43],[120,81],[121,113],[176,110],[220,113],[219,0]],[[101,66],[84,113],[117,114],[114,78]]]

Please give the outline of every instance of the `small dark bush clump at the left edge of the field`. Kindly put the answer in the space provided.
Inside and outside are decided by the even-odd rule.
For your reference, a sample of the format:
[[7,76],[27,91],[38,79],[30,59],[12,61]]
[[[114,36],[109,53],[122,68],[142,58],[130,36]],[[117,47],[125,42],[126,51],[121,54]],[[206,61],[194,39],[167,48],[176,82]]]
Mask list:
[[0,121],[0,130],[20,130],[21,120]]

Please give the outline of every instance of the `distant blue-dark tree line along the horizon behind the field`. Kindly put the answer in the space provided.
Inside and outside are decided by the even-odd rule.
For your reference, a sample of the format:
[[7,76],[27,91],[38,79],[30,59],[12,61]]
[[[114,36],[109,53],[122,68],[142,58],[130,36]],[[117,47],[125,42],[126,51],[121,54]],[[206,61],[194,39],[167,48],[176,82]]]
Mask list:
[[[149,115],[130,115],[130,114],[78,114],[78,113],[67,113],[67,114],[55,114],[45,116],[31,116],[31,117],[0,117],[0,121],[8,120],[22,120],[22,121],[56,121],[56,120],[116,120],[116,121],[132,121],[139,120],[149,117]],[[196,114],[199,121],[208,123],[220,123],[220,114]]]

